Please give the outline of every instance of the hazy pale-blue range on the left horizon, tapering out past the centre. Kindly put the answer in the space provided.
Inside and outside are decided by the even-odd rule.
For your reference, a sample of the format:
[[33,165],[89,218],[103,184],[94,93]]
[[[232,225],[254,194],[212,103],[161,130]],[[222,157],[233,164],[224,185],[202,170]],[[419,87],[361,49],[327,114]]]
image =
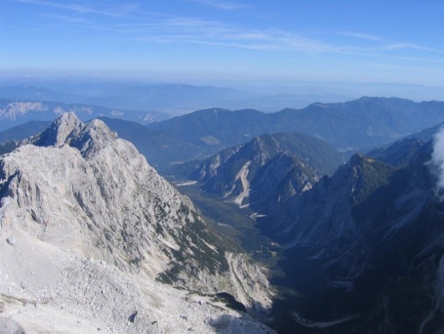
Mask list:
[[[178,115],[209,106],[234,106],[249,103],[260,95],[242,90],[188,84],[64,83],[59,86],[2,85],[0,99],[17,101],[60,101],[67,104],[92,104],[110,109],[138,110],[145,113]],[[242,102],[241,102],[242,103]]]

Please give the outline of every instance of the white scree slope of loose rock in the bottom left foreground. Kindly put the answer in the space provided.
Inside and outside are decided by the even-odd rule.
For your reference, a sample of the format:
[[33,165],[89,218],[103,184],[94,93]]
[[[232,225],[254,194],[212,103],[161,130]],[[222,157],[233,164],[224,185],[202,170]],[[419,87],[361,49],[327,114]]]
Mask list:
[[17,246],[0,243],[2,334],[274,333],[209,296],[12,232]]

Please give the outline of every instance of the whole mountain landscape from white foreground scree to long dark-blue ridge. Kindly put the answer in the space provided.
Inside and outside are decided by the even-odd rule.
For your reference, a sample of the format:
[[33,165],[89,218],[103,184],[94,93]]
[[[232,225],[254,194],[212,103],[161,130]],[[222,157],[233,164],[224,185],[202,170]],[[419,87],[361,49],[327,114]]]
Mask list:
[[[21,125],[40,134],[0,157],[0,326],[271,331],[235,308],[279,334],[442,333],[443,113],[363,97],[147,126],[73,113],[44,132]],[[113,131],[198,182],[202,211]]]

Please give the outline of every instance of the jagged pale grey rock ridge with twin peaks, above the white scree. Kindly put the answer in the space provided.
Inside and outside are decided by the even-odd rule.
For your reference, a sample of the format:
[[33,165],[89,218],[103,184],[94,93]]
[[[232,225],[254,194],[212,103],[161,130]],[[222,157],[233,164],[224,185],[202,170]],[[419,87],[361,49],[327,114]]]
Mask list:
[[267,308],[261,270],[101,120],[65,113],[1,157],[1,229],[203,293]]

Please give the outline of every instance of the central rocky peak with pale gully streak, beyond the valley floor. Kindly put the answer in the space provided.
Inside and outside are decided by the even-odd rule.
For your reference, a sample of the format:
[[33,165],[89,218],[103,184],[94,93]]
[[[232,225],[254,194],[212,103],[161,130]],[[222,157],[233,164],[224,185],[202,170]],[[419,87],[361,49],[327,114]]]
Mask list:
[[201,182],[202,190],[268,214],[334,173],[342,162],[340,153],[318,138],[264,134],[181,168],[194,166],[188,177]]

